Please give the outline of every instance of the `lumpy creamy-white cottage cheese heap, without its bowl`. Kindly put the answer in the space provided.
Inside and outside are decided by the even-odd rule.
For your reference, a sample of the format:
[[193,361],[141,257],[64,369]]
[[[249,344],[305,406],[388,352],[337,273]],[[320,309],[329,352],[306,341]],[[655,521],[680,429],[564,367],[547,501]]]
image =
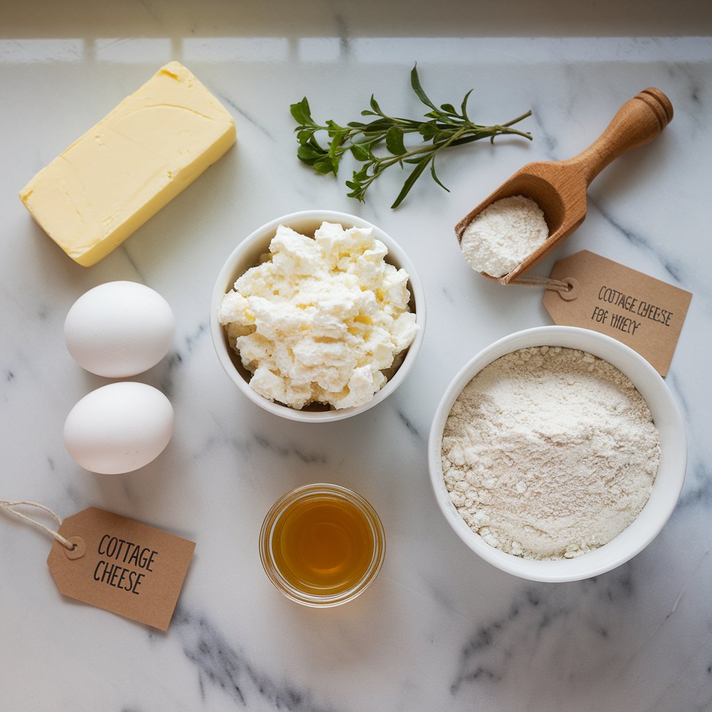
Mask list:
[[281,225],[270,253],[222,301],[219,320],[262,396],[301,409],[365,404],[417,331],[409,276],[371,228]]

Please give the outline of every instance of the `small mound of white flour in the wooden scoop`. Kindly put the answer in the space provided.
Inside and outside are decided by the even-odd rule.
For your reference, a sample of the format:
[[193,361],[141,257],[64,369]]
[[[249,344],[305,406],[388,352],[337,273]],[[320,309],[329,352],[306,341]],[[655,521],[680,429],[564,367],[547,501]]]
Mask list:
[[465,228],[460,246],[473,270],[503,277],[549,236],[544,214],[531,198],[515,195],[488,205]]

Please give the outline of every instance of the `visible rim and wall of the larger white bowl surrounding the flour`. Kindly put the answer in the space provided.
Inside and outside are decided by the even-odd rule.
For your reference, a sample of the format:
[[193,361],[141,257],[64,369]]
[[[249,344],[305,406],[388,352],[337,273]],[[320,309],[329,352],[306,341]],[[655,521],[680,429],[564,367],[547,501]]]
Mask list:
[[[535,561],[486,543],[461,518],[450,500],[441,465],[445,421],[461,390],[486,365],[530,346],[564,346],[602,358],[621,370],[645,399],[660,434],[660,465],[652,493],[634,522],[604,546],[572,559]],[[570,326],[518,331],[493,343],[469,361],[447,387],[437,407],[428,441],[428,464],[435,498],[449,525],[471,550],[503,571],[533,581],[577,581],[621,565],[644,549],[669,519],[685,479],[687,445],[679,409],[658,372],[634,350],[611,337]]]

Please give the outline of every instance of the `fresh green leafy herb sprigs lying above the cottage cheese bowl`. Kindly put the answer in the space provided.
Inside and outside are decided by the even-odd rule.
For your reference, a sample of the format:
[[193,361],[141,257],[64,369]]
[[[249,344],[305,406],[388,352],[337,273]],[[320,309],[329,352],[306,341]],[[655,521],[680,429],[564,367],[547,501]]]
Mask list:
[[[346,181],[351,191],[348,197],[362,202],[365,201],[371,184],[388,168],[398,164],[404,169],[404,164],[411,164],[414,168],[391,206],[397,208],[427,168],[430,169],[434,181],[441,188],[448,190],[435,172],[435,159],[441,150],[482,138],[489,138],[494,143],[494,138],[503,134],[515,134],[531,140],[528,132],[511,128],[530,116],[530,111],[504,124],[481,126],[472,122],[467,115],[467,102],[472,90],[466,93],[458,112],[452,104],[436,107],[424,92],[416,67],[410,73],[410,84],[419,100],[429,108],[424,114],[424,120],[389,116],[382,111],[373,95],[371,108],[363,110],[361,115],[376,118],[370,122],[350,121],[345,126],[331,119],[327,120],[325,125],[315,122],[306,97],[290,105],[292,116],[298,123],[295,133],[299,142],[297,156],[300,161],[313,167],[318,173],[336,175],[342,157],[350,153],[362,165],[353,172],[352,179]],[[322,131],[328,136],[328,147],[321,145],[315,136]],[[410,134],[419,137],[419,145],[406,146],[406,138]],[[377,154],[375,149],[383,145],[387,153],[380,151]]]

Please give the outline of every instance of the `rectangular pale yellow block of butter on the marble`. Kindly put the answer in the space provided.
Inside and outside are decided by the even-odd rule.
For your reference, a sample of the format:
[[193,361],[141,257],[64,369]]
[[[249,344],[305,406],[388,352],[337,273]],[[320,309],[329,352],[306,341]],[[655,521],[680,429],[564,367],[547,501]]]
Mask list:
[[88,267],[234,142],[229,112],[171,62],[43,168],[20,198],[46,233]]

